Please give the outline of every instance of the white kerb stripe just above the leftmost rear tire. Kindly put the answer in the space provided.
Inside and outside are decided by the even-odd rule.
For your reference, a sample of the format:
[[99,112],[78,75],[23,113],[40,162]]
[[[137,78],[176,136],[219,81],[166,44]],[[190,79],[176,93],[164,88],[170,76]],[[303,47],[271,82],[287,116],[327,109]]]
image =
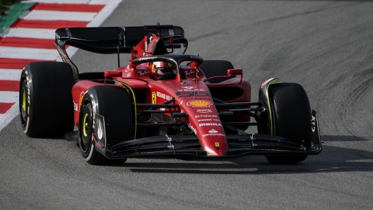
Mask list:
[[55,61],[58,56],[59,53],[55,49],[0,47],[0,58],[23,58]]

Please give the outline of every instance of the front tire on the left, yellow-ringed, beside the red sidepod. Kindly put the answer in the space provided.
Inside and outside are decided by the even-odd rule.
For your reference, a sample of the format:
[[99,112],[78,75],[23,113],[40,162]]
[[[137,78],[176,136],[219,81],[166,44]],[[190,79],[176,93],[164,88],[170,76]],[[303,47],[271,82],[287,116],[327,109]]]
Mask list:
[[[79,147],[83,158],[91,165],[122,165],[126,159],[107,159],[97,152],[97,149],[100,149],[100,145],[97,145],[100,138],[93,135],[95,129],[101,133],[104,129],[107,147],[132,139],[134,113],[126,89],[113,85],[90,87],[83,97],[82,104],[79,117]],[[104,127],[95,125],[97,115],[103,117]],[[101,147],[103,146],[104,143]]]

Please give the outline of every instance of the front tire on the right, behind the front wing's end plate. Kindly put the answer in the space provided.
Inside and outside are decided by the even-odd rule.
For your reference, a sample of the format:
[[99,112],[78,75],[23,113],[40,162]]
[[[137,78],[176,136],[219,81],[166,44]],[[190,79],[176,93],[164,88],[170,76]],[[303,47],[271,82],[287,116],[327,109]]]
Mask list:
[[[304,147],[312,143],[312,112],[304,88],[296,83],[269,86],[268,95],[273,111],[274,134],[297,141]],[[290,164],[304,161],[307,155],[267,155],[269,163]]]

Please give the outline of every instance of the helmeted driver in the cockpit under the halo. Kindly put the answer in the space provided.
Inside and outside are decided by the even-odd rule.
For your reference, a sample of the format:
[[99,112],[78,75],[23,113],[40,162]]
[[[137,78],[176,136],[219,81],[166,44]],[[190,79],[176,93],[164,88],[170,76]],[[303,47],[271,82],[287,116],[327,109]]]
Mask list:
[[176,68],[172,63],[154,62],[150,76],[153,80],[172,80],[176,78]]

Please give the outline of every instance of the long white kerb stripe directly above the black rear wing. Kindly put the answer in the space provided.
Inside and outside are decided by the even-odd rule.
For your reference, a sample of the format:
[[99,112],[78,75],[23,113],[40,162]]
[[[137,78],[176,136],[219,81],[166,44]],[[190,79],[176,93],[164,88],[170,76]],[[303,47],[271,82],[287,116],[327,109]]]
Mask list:
[[71,20],[90,21],[97,13],[65,12],[65,11],[42,11],[33,10],[25,16],[25,20]]

